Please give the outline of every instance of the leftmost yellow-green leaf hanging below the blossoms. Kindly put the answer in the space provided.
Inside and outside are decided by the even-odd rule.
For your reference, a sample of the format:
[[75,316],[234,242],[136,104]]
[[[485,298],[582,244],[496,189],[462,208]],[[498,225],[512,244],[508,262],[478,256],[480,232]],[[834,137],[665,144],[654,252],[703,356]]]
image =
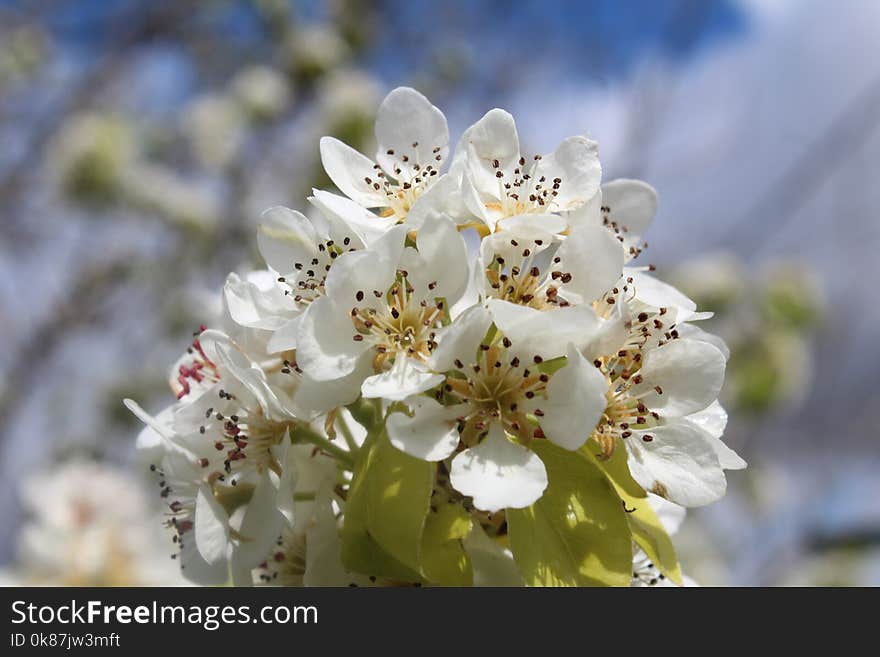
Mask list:
[[361,448],[345,506],[342,561],[365,575],[419,581],[434,465],[395,449],[384,431]]

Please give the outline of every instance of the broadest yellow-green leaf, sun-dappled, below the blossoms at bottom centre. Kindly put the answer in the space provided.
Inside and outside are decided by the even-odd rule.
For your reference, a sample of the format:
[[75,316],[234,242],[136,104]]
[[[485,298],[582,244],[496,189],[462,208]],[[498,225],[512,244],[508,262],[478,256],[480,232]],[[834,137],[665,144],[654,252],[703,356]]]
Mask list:
[[529,586],[628,586],[632,537],[620,497],[589,456],[550,441],[532,449],[549,485],[527,509],[508,509],[510,547]]

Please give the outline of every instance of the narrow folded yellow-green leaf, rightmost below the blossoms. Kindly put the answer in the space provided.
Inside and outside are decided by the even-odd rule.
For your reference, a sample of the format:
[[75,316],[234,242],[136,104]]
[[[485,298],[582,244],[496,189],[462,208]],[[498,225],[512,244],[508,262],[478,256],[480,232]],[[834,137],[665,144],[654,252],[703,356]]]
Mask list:
[[648,494],[630,475],[626,464],[626,448],[618,441],[611,458],[600,461],[588,451],[591,447],[593,445],[588,442],[584,451],[587,451],[589,457],[602,468],[623,500],[633,540],[645,551],[660,572],[680,586],[681,566],[675,555],[675,546],[648,502]]

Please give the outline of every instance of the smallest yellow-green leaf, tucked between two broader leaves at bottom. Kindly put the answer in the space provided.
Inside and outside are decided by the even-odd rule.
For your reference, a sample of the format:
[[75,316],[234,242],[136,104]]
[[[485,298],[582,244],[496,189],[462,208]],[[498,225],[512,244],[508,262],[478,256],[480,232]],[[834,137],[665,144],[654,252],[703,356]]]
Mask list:
[[459,504],[443,504],[428,514],[422,535],[422,573],[441,586],[471,586],[471,560],[462,539],[471,531],[470,514]]

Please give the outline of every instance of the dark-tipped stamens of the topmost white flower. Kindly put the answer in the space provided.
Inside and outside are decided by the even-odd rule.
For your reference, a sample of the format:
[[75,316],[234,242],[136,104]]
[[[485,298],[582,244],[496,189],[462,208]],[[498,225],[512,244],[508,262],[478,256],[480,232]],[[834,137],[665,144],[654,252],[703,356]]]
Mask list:
[[382,216],[394,216],[403,220],[419,196],[433,184],[440,174],[440,164],[443,161],[443,156],[440,155],[441,147],[435,146],[432,149],[434,161],[429,163],[419,161],[418,147],[419,142],[413,142],[413,150],[410,154],[397,153],[393,148],[389,148],[385,152],[386,155],[397,158],[394,164],[393,178],[387,175],[378,164],[373,165],[373,169],[376,171],[374,176],[364,177],[364,182],[375,191],[383,192],[388,199],[387,209],[382,213]]

